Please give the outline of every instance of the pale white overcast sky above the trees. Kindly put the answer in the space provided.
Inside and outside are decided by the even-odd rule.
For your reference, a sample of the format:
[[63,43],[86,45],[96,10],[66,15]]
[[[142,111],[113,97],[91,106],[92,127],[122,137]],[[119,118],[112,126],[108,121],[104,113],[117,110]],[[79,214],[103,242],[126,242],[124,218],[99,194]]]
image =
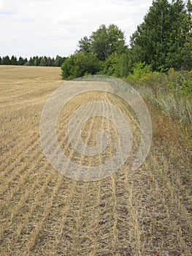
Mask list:
[[126,42],[153,0],[0,0],[0,56],[69,56],[78,40],[114,23]]

